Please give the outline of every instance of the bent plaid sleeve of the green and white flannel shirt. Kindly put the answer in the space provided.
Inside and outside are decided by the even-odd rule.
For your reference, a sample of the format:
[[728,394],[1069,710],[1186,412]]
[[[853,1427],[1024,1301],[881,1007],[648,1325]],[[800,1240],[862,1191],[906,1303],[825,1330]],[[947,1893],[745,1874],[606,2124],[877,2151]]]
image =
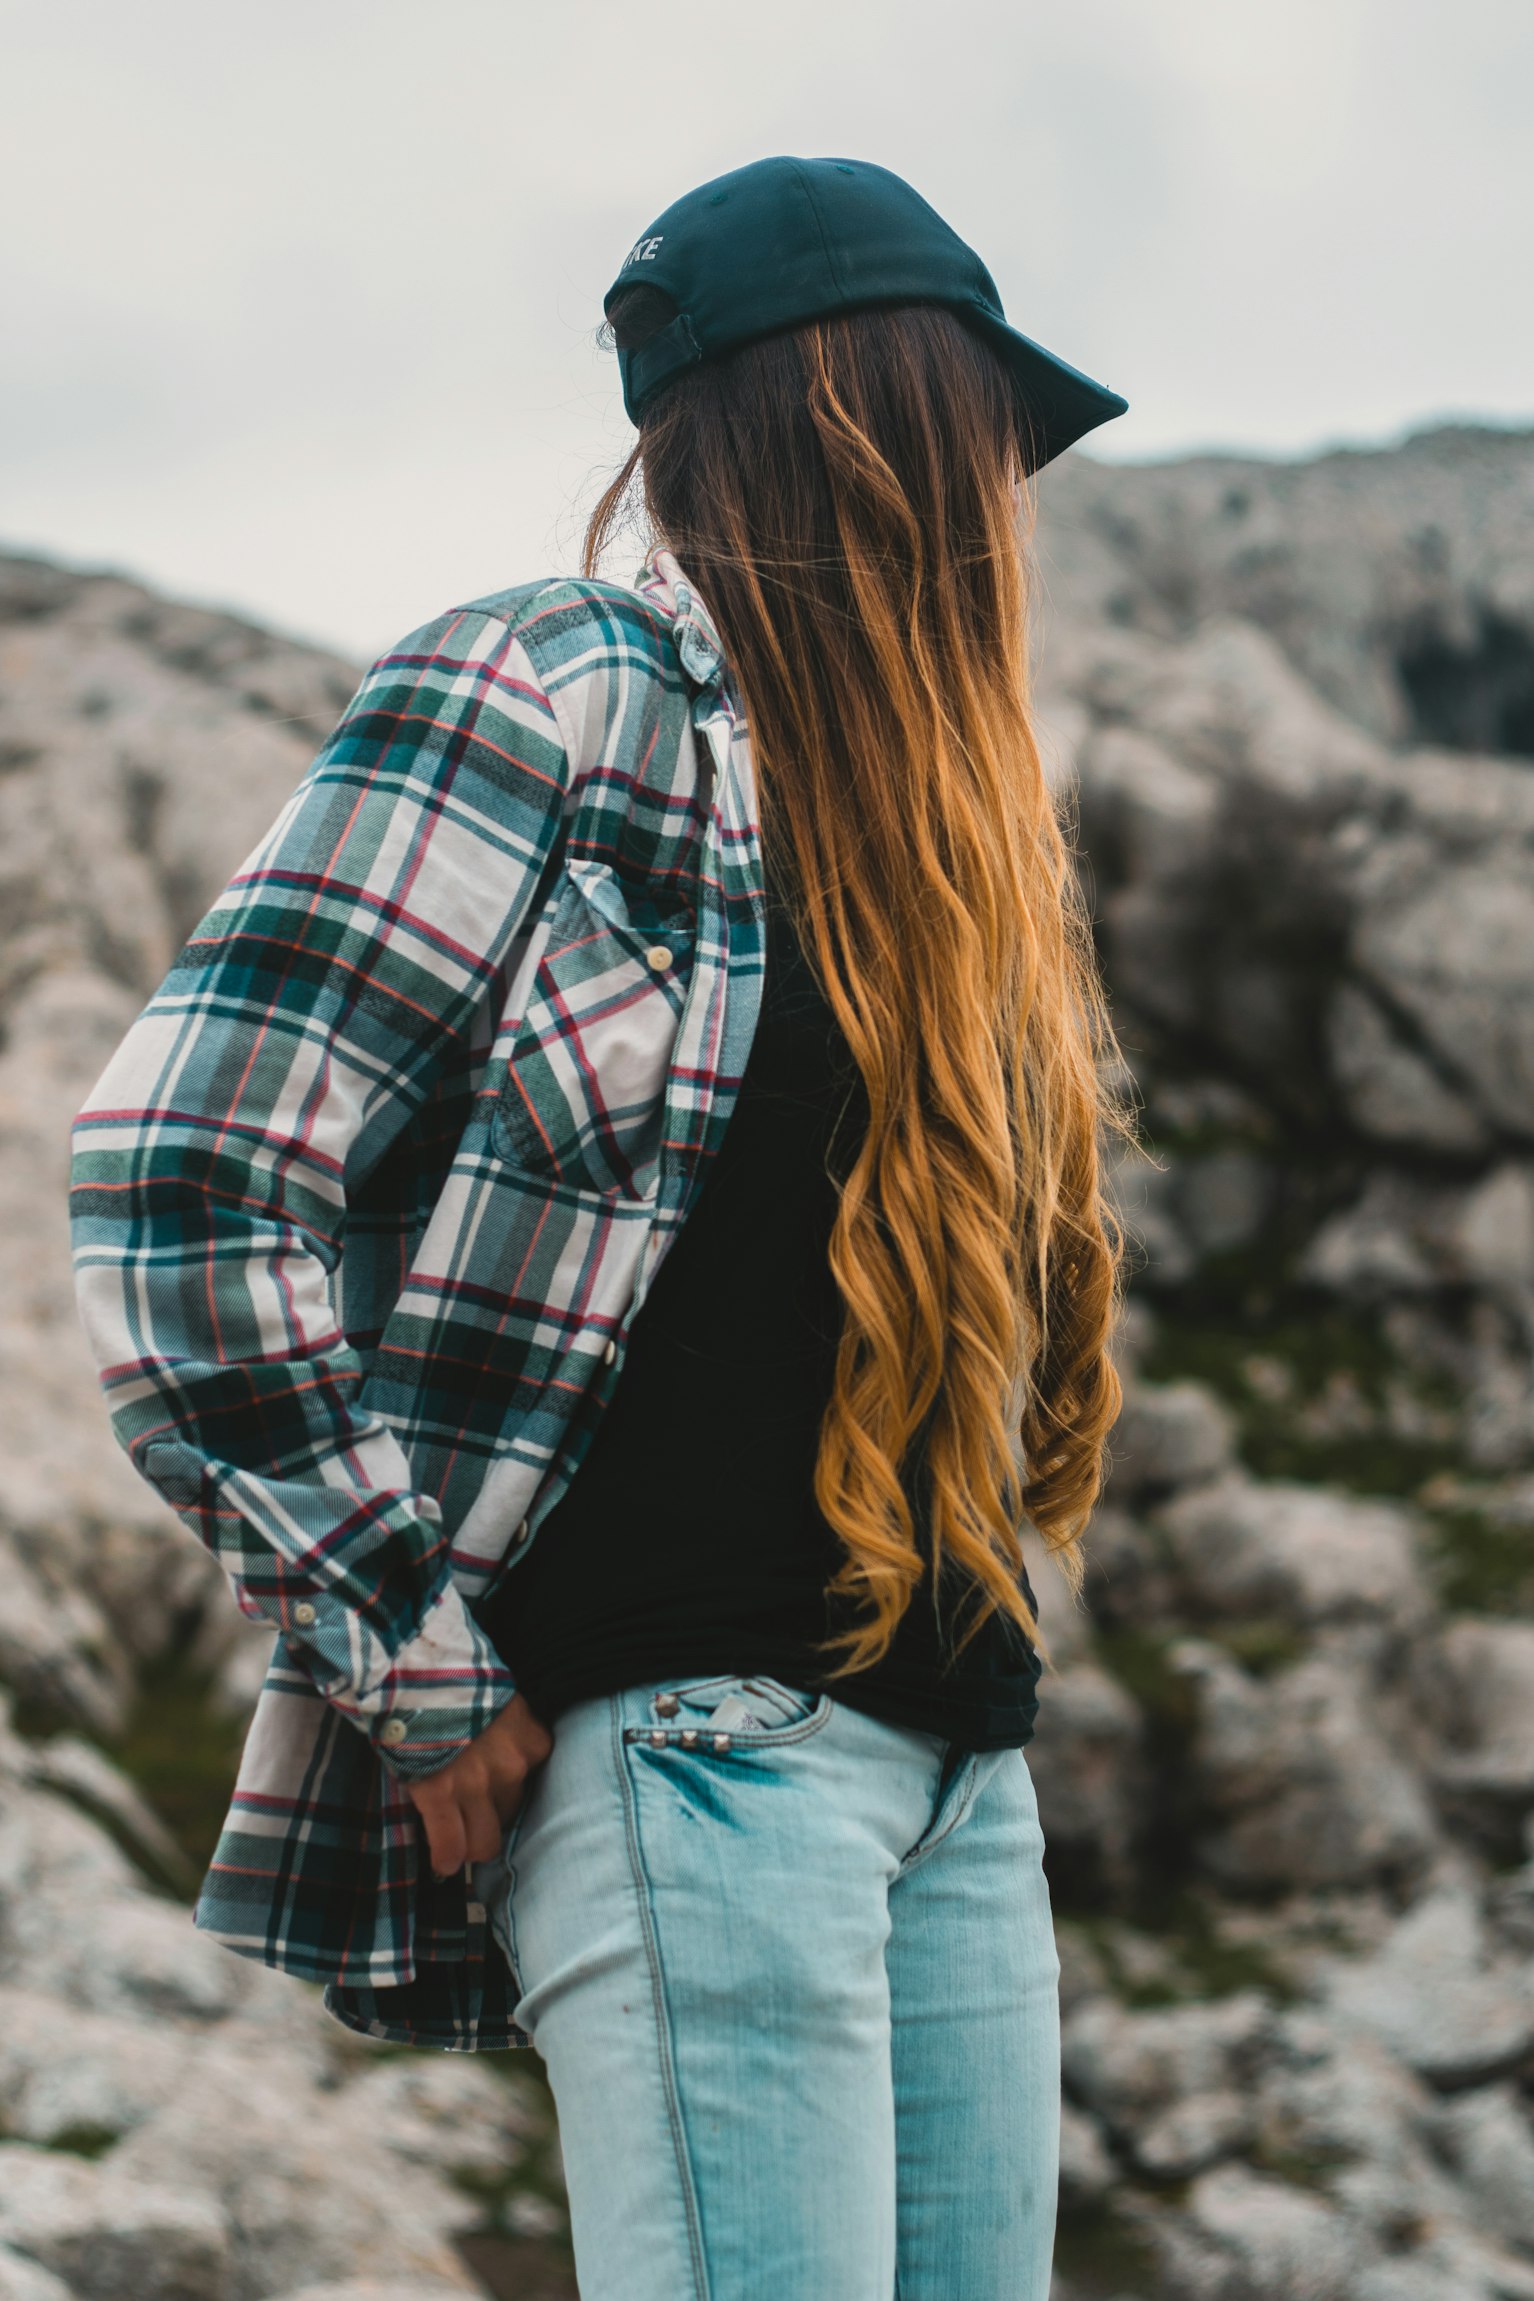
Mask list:
[[[209,773],[216,773],[209,762]],[[506,621],[366,674],[76,1121],[71,1229],[120,1443],[389,1765],[515,1691],[442,1512],[361,1406],[347,1199],[462,1063],[557,842],[568,759]]]

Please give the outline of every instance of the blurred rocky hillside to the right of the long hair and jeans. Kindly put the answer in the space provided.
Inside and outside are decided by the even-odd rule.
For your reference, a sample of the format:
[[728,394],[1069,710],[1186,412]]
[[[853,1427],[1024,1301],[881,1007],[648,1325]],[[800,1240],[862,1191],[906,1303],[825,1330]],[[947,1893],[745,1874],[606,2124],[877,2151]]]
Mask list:
[[1534,2294],[1534,435],[1076,463],[1145,1157],[1037,1779],[1074,2294]]

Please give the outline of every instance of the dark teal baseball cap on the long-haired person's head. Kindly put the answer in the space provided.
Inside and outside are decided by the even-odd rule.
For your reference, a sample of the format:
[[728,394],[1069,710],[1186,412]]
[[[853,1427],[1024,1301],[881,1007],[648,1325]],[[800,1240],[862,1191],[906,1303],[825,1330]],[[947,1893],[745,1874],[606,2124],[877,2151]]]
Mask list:
[[1127,400],[1007,324],[996,281],[904,177],[862,159],[757,159],[683,193],[639,235],[607,290],[662,288],[676,318],[619,347],[623,405],[639,421],[674,377],[807,320],[888,304],[943,304],[1007,366],[1049,463]]

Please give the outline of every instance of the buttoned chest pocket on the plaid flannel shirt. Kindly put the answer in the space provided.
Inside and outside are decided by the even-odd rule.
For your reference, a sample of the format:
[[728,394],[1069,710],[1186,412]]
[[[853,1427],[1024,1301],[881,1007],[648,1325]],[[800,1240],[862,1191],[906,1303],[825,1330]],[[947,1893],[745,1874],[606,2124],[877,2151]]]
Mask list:
[[570,863],[513,1038],[492,1148],[575,1190],[649,1199],[695,923]]

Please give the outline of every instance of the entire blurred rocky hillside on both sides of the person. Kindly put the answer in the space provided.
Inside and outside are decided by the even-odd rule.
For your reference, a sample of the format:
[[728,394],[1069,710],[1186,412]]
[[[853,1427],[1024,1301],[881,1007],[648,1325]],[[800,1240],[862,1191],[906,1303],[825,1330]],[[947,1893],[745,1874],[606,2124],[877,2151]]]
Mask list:
[[[1145,1137],[1033,1753],[1060,2301],[1534,2301],[1534,435],[1044,506]],[[350,686],[0,561],[0,2301],[568,2289],[531,2080],[359,2048],[177,1908],[260,1638],[64,1266],[67,1118]]]

